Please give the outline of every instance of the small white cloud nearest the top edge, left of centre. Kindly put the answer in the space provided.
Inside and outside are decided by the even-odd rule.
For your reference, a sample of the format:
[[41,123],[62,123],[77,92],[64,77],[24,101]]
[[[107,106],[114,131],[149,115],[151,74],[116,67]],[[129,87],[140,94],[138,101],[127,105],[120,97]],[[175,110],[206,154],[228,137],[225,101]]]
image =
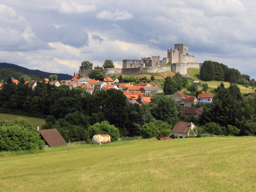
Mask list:
[[62,2],[60,6],[60,13],[87,13],[87,12],[93,12],[96,10],[96,6],[94,4],[92,5],[82,5],[78,4],[76,2],[72,3],[67,3],[67,2]]

